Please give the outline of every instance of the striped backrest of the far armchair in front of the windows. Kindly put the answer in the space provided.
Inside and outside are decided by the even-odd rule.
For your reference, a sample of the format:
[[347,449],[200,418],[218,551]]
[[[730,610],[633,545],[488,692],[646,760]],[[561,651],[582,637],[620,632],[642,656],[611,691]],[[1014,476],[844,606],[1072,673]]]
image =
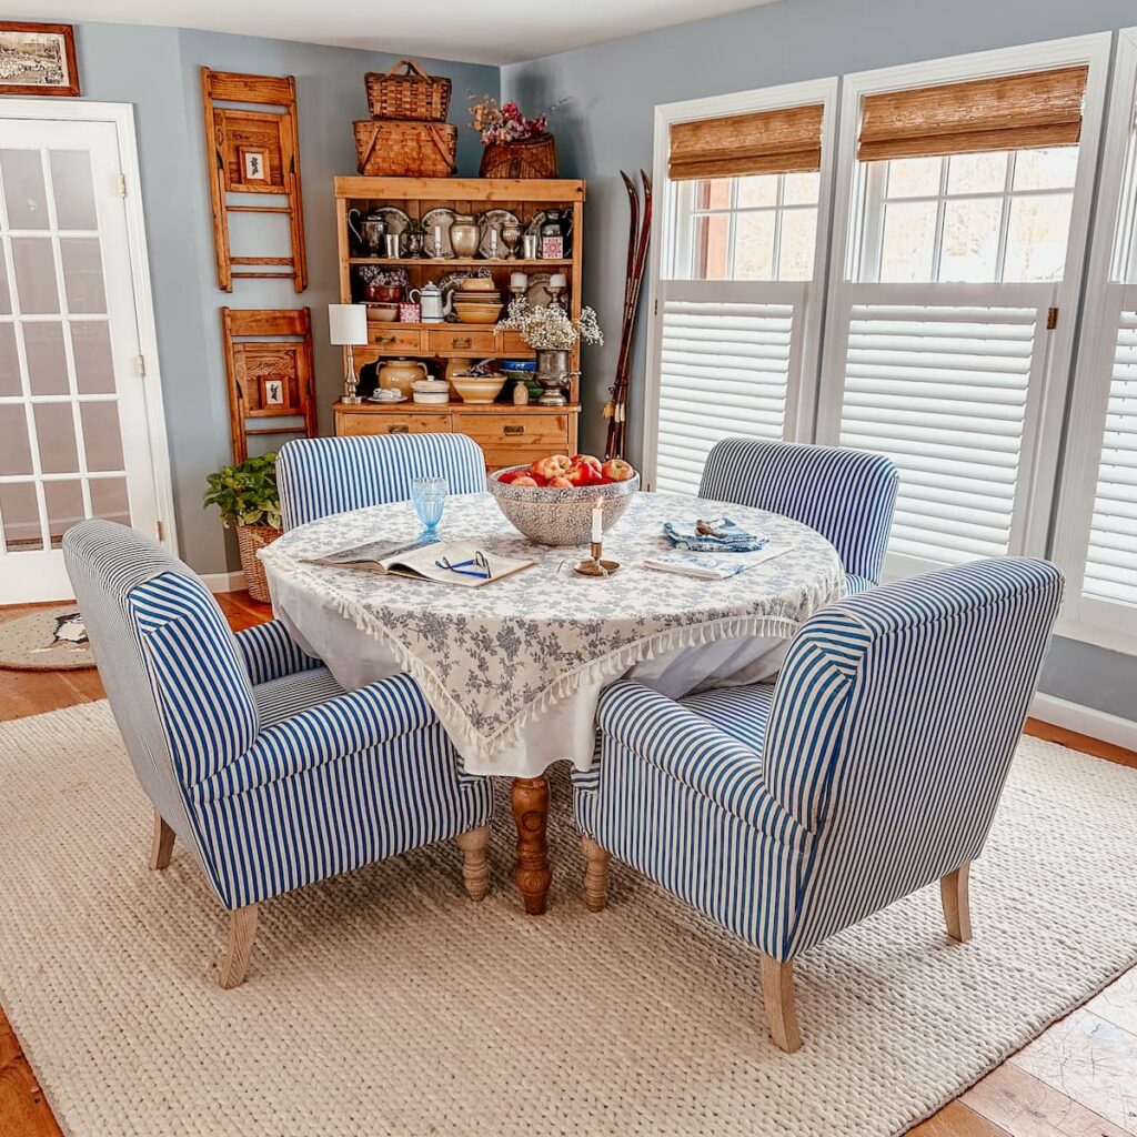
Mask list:
[[792,517],[837,549],[847,573],[879,583],[897,485],[882,454],[728,438],[707,456],[699,497]]

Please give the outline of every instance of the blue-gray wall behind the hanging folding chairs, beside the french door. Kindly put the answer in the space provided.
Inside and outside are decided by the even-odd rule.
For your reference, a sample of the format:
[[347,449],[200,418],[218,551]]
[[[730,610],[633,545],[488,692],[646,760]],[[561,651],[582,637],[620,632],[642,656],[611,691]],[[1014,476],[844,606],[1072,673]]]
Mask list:
[[[321,426],[331,433],[331,405],[343,374],[339,349],[327,343],[325,307],[339,299],[332,179],[356,173],[351,122],[367,117],[364,73],[385,70],[400,57],[94,23],[76,25],[76,49],[84,98],[134,105],[181,554],[199,572],[225,572],[236,566],[232,537],[226,541],[216,511],[201,507],[206,474],[232,460],[218,310],[226,305],[312,308]],[[459,173],[475,174],[481,146],[465,128],[466,94],[497,94],[498,68],[421,61],[432,74],[453,80],[450,117],[459,126]],[[202,66],[296,76],[309,274],[305,292],[276,281],[238,281],[233,292],[217,288]],[[287,242],[279,251],[287,252]]]

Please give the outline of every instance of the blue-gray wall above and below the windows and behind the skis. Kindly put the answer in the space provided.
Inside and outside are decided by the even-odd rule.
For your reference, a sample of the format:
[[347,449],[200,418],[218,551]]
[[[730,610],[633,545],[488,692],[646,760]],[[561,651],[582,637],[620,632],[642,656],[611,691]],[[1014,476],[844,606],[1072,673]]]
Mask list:
[[[599,410],[619,346],[628,226],[619,171],[652,169],[658,103],[1134,24],[1135,0],[781,0],[505,67],[503,96],[523,108],[571,100],[553,118],[561,173],[588,181],[584,299],[608,338],[583,357],[583,445],[603,447]],[[633,459],[642,446],[644,332],[641,324],[629,423]],[[1137,719],[1137,658],[1056,640],[1043,689]]]

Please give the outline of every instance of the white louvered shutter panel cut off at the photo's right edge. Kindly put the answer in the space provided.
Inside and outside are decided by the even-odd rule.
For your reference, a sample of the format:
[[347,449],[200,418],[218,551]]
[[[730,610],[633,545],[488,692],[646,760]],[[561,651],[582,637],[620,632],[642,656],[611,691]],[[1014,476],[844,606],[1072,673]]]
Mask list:
[[1137,611],[1137,285],[1124,291],[1081,590]]

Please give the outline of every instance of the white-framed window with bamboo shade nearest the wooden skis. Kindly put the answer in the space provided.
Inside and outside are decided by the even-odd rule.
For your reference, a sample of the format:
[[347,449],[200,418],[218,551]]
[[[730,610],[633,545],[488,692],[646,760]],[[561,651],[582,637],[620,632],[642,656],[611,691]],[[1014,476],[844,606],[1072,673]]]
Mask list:
[[695,492],[727,435],[811,433],[835,94],[824,81],[658,109],[644,463],[654,489]]

